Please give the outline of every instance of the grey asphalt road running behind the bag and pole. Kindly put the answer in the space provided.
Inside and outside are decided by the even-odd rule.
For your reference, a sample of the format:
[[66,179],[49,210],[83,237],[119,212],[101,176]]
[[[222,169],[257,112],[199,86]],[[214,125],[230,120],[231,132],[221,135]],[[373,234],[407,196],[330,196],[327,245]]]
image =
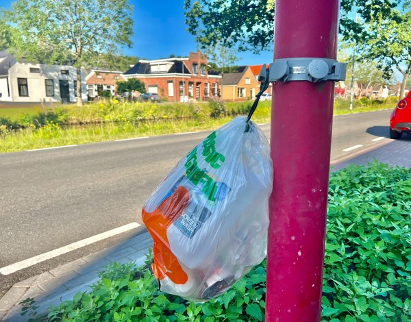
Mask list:
[[[334,116],[332,160],[388,140],[390,112]],[[262,125],[267,137],[269,128]],[[122,225],[141,223],[140,210],[147,197],[208,133],[1,153],[0,269]],[[140,226],[10,275],[0,274],[0,288],[143,229]]]

